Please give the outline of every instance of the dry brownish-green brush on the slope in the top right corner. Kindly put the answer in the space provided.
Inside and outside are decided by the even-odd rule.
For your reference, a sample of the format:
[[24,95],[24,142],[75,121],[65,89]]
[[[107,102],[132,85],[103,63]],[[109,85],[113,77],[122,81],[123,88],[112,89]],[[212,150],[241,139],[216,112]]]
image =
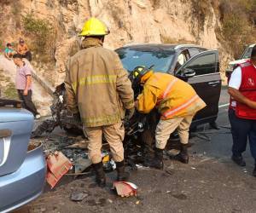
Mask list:
[[246,44],[256,42],[256,0],[192,0],[191,3],[200,27],[212,14],[211,8],[219,15],[222,27],[216,28],[218,39],[236,58]]

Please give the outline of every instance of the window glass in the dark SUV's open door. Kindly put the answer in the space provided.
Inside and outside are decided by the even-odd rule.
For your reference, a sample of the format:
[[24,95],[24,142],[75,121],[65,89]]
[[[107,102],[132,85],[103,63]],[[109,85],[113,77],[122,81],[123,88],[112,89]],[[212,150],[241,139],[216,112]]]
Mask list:
[[216,72],[216,55],[202,55],[191,60],[185,68],[193,69],[197,76]]

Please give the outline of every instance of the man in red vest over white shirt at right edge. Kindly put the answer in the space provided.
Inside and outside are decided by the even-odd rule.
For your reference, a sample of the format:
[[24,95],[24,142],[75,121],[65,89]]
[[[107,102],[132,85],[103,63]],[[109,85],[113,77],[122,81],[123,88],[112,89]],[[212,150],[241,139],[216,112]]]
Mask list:
[[240,166],[246,165],[241,153],[246,150],[249,138],[255,160],[253,176],[256,176],[256,46],[251,60],[237,66],[232,73],[228,91],[231,96],[229,118],[233,136],[232,160]]

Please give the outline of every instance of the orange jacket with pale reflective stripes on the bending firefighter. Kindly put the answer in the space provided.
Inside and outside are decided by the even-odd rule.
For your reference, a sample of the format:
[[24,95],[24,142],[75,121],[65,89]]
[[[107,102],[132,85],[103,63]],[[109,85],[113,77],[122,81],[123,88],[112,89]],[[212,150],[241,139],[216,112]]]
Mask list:
[[158,108],[161,119],[170,119],[193,115],[206,104],[189,83],[170,74],[156,72],[144,84],[137,109],[148,113],[154,107]]

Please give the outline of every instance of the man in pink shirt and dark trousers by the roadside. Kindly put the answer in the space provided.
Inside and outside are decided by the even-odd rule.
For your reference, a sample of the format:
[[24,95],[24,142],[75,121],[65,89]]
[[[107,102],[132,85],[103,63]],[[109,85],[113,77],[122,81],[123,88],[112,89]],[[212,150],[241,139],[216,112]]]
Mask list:
[[32,102],[32,70],[22,60],[22,55],[15,54],[13,59],[17,66],[15,86],[20,100],[23,101],[23,107],[32,112],[34,117],[38,119],[40,118],[40,114]]

